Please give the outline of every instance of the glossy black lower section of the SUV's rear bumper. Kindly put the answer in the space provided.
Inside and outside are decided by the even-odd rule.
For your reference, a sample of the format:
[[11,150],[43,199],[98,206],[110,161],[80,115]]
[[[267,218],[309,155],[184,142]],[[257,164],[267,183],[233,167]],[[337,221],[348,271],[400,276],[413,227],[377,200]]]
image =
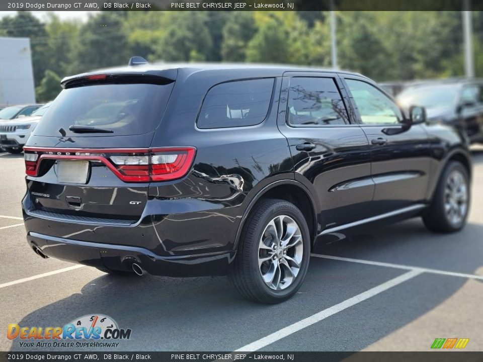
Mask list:
[[27,242],[31,248],[37,247],[42,254],[56,259],[129,271],[135,262],[149,274],[167,277],[224,275],[235,256],[235,251],[160,256],[142,247],[87,242],[35,232],[28,232]]

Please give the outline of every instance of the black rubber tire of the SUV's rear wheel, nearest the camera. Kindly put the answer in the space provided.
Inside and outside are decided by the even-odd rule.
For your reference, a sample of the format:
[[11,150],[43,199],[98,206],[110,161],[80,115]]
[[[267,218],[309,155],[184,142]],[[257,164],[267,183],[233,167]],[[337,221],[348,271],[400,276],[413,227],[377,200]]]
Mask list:
[[[281,266],[279,270],[284,269],[283,272],[279,272],[281,276],[283,276],[283,281],[285,281],[287,276],[292,278],[290,284],[287,284],[288,287],[283,290],[271,289],[262,279],[261,267],[259,266],[259,255],[261,252],[259,247],[261,245],[260,240],[262,234],[266,231],[268,224],[278,216],[288,216],[288,219],[291,219],[296,223],[301,236],[301,243],[298,242],[298,245],[303,246],[300,267],[295,278],[290,276],[288,272],[285,272],[287,269],[280,264]],[[285,228],[283,230],[286,231],[287,229]],[[284,234],[284,232],[281,232],[280,234]],[[264,235],[267,235],[267,233]],[[275,240],[273,237],[272,239]],[[297,248],[299,246],[297,246]],[[288,253],[295,253],[295,247],[287,249],[286,251]],[[275,253],[275,251],[270,252]],[[285,258],[288,254],[283,255],[283,251],[281,253],[282,256],[280,256],[280,261],[286,261],[287,259]],[[299,251],[297,251],[297,253],[299,253]],[[300,254],[298,255],[300,256]],[[294,255],[291,256],[294,257]],[[287,201],[267,199],[259,202],[259,204],[254,207],[244,225],[238,243],[237,255],[231,266],[228,278],[238,293],[246,299],[266,304],[281,303],[291,298],[302,285],[305,274],[307,273],[309,258],[310,233],[303,214],[295,205]],[[267,260],[267,262],[271,263],[272,259]],[[281,278],[279,281],[280,280]],[[279,282],[280,285],[283,285],[283,281]]]

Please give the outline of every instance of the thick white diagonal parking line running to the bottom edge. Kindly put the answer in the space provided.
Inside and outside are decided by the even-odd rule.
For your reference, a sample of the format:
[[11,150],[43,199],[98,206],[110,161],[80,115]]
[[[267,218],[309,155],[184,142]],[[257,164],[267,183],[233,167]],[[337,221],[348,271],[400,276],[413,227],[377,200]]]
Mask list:
[[391,279],[385,283],[382,283],[378,285],[377,287],[371,288],[368,291],[365,291],[361,294],[358,294],[352,298],[349,298],[345,300],[344,302],[341,302],[339,304],[336,304],[335,306],[332,306],[330,308],[324,309],[323,311],[320,311],[318,313],[315,313],[314,315],[311,315],[310,317],[307,317],[305,319],[302,319],[298,322],[295,322],[294,324],[291,324],[285,328],[282,328],[272,334],[269,334],[266,337],[263,337],[255,342],[252,342],[250,344],[247,344],[246,346],[243,346],[241,348],[238,348],[234,352],[254,352],[256,350],[259,350],[273,342],[278,341],[279,339],[282,339],[290,334],[293,334],[295,332],[298,332],[299,330],[306,328],[308,326],[311,326],[314,323],[320,322],[321,320],[324,320],[336,313],[339,313],[343,311],[344,309],[347,309],[349,307],[352,307],[353,305],[356,305],[357,303],[360,303],[362,301],[365,301],[366,299],[369,299],[379,293],[382,293],[392,287],[395,287],[401,283],[404,283],[410,279],[413,279],[414,277],[417,277],[418,275],[422,274],[421,270],[411,270],[411,272],[405,273],[399,277],[396,277],[394,279]]

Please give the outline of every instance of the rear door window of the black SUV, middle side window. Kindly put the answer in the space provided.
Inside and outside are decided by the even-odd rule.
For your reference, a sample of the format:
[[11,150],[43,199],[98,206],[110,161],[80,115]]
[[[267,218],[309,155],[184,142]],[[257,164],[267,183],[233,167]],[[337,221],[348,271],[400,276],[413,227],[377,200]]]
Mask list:
[[290,126],[314,127],[348,123],[347,112],[333,78],[293,77],[290,80]]

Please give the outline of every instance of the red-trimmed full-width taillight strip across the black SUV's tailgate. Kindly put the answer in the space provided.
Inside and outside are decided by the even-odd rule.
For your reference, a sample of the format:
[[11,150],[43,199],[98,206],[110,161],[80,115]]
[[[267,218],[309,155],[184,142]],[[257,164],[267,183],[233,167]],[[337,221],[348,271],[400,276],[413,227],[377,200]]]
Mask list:
[[38,175],[39,164],[43,159],[86,159],[101,161],[125,182],[169,181],[182,178],[190,170],[196,153],[194,147],[149,150],[24,147],[24,150],[25,172],[29,176]]

